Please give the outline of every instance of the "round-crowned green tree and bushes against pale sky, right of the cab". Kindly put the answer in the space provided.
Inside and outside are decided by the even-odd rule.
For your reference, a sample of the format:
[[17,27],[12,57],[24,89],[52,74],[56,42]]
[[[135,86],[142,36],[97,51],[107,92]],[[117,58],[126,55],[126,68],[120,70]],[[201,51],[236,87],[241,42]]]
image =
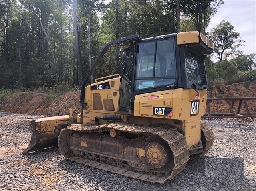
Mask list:
[[[222,20],[210,32],[210,39],[219,59],[213,64],[210,57],[206,58],[208,81],[211,85],[255,80],[256,54],[244,55],[242,51],[236,50],[244,41],[230,22]],[[228,60],[230,56],[232,59]]]

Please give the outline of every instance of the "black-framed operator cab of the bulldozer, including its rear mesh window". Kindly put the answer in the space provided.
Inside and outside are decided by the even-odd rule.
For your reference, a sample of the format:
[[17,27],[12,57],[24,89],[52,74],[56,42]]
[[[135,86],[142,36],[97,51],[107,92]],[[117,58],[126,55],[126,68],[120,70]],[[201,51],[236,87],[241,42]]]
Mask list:
[[132,114],[133,100],[139,94],[174,88],[208,89],[204,54],[212,50],[201,42],[177,41],[177,34],[139,39],[126,49],[119,111]]

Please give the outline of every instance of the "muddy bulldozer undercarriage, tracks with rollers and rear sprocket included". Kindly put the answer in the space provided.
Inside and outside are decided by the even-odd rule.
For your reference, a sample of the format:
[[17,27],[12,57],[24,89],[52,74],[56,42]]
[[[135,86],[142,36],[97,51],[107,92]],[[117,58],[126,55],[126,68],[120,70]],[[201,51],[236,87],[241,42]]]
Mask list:
[[[203,126],[202,154],[213,142],[212,129]],[[168,125],[71,125],[61,131],[59,148],[71,161],[151,183],[173,179],[189,160],[185,136]]]

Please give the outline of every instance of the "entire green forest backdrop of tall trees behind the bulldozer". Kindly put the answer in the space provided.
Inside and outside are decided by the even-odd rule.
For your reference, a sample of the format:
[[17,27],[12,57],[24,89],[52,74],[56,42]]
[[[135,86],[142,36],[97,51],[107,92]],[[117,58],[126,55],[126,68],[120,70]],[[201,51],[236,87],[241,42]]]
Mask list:
[[[1,0],[1,97],[13,91],[80,89],[109,41],[200,31],[215,45],[206,58],[210,85],[255,80],[255,53],[244,55],[240,33],[222,20],[208,29],[222,0]],[[77,38],[76,38],[77,37]],[[108,51],[93,79],[113,73],[123,45]]]

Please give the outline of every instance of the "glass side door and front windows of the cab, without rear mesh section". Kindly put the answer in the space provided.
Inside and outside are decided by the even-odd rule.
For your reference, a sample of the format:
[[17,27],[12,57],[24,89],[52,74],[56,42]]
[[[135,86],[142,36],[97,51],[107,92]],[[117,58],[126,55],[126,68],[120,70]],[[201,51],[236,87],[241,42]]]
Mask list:
[[177,84],[175,39],[149,39],[126,50],[121,78],[119,111],[132,112],[136,94]]

